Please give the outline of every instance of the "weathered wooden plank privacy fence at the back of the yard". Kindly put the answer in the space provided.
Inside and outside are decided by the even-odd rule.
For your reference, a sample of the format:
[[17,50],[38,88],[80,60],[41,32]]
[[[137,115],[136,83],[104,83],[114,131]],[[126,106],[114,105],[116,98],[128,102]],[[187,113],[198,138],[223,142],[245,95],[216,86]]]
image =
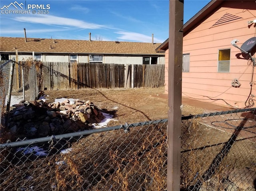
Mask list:
[[[164,65],[68,62],[34,62],[33,64],[36,65],[38,87],[42,91],[164,86]],[[16,89],[21,86],[20,79],[21,74],[17,73],[14,79]]]

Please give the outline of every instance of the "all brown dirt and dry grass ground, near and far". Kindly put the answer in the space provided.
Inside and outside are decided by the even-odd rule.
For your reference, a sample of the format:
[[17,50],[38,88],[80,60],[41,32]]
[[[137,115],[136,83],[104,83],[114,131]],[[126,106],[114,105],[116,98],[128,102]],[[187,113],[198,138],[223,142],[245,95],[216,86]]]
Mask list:
[[[56,98],[90,100],[103,112],[113,114],[115,120],[110,121],[108,126],[168,118],[168,100],[160,96],[164,93],[164,88],[84,89],[44,93],[48,95],[47,103],[54,102]],[[202,108],[184,104],[182,115],[203,112]],[[233,118],[239,116],[234,115]],[[253,175],[256,171],[255,142],[240,138],[225,129],[212,128],[206,125],[208,120],[217,122],[219,119],[213,116],[182,122],[181,187],[186,189],[190,185],[196,185],[197,179],[202,181],[202,177],[211,172],[200,185],[202,190],[249,191],[256,179],[243,178],[245,171],[250,171]],[[249,132],[254,126],[253,123],[243,130]],[[35,144],[34,146],[48,152],[47,157],[40,158],[24,156],[15,149],[10,150],[13,155],[8,154],[7,148],[1,153],[6,160],[2,162],[4,171],[0,185],[6,191],[31,186],[34,190],[45,191],[81,188],[88,191],[165,190],[168,140],[166,127],[167,123],[144,125],[131,128],[129,133],[116,130],[82,138],[62,139],[54,145],[49,145],[49,142]],[[241,131],[242,129],[239,130]],[[63,148],[72,148],[72,152],[63,155],[60,153]],[[9,160],[14,165],[9,165]],[[64,165],[59,165],[59,162]],[[23,163],[25,165],[20,165]],[[240,173],[235,173],[236,171]],[[247,175],[248,173],[246,177]],[[246,185],[240,183],[240,180]]]

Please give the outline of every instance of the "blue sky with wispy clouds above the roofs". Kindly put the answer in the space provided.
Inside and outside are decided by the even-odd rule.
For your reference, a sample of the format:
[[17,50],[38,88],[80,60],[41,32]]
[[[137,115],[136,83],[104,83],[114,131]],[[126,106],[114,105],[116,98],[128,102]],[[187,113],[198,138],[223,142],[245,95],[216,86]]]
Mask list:
[[[184,0],[184,23],[208,2]],[[90,32],[92,40],[151,42],[153,33],[162,43],[169,35],[169,0],[1,0],[0,8],[2,37],[24,37],[23,28],[32,38],[88,40]]]

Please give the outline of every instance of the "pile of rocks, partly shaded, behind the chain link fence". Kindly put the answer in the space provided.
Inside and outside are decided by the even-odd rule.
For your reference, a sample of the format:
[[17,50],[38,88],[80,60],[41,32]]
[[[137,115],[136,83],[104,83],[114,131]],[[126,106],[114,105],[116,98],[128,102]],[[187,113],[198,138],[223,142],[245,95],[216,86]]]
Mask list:
[[39,138],[92,128],[105,117],[90,101],[20,102],[9,113],[8,129],[17,138]]

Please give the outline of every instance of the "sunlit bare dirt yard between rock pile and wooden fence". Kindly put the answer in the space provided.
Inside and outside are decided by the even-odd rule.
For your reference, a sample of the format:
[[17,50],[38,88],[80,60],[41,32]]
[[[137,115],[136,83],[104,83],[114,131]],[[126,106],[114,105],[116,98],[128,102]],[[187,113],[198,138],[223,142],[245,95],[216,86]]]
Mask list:
[[[55,98],[75,98],[90,100],[98,108],[114,115],[116,121],[108,126],[144,122],[168,118],[168,100],[159,95],[164,94],[164,87],[148,89],[84,89],[74,91],[45,91],[47,102]],[[182,114],[201,114],[202,108],[184,105]]]

